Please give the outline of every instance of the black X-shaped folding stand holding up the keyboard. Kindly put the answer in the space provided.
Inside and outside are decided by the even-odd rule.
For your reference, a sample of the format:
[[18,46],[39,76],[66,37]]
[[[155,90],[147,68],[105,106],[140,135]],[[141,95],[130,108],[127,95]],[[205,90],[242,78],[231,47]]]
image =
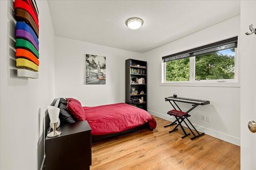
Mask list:
[[[172,104],[172,102],[170,102],[170,101],[168,101],[168,102],[170,103],[170,105],[172,105],[172,107],[173,107],[175,110],[177,110],[177,109],[175,108],[175,106]],[[177,107],[180,111],[182,111],[175,101],[173,101],[173,103],[176,105],[176,107]],[[188,111],[186,111],[186,113],[189,113],[190,111],[194,110],[197,106],[198,106],[198,105],[193,104],[192,107],[191,107]],[[182,136],[182,138],[184,138],[184,137],[186,137],[186,136],[189,135],[189,134],[187,134],[187,133],[185,132],[184,128],[183,128],[182,125],[181,125],[181,123],[184,122],[185,125],[187,126],[187,128],[189,129],[189,131],[194,135],[194,137],[191,137],[191,138],[190,138],[191,140],[196,139],[196,138],[198,138],[198,137],[204,135],[204,133],[199,133],[199,132],[197,131],[197,129],[194,127],[194,125],[193,125],[193,124],[190,122],[190,120],[187,118],[187,117],[189,117],[189,116],[190,116],[190,115],[185,116],[185,117],[182,117],[182,118],[175,116],[176,120],[175,120],[172,124],[169,124],[169,125],[164,126],[164,128],[169,127],[169,126],[176,125],[176,124],[177,124],[176,122],[178,122],[178,125],[177,125],[172,131],[169,131],[169,133],[172,133],[173,131],[178,130],[177,127],[180,125],[180,127],[181,127],[181,129],[182,129],[182,131],[183,131],[183,133],[184,133],[184,136]],[[188,126],[188,124],[185,122],[185,119],[186,119],[187,122],[193,127],[193,129],[197,132],[197,134],[195,134],[195,133],[191,130],[191,128],[190,128],[190,127]],[[180,122],[180,120],[181,120],[181,122]]]

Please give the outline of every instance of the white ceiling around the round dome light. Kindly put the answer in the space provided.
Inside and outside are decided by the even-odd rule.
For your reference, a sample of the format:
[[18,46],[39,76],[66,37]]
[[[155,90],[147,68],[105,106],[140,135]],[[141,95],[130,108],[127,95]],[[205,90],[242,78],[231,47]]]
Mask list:
[[[139,53],[240,14],[240,1],[49,1],[49,7],[56,36]],[[144,20],[138,30],[125,25],[133,16]]]

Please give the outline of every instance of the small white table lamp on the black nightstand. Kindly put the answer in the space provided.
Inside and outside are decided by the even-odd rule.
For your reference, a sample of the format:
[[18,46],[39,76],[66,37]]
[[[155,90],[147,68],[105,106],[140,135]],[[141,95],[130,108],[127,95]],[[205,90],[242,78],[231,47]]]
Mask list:
[[47,136],[48,137],[55,137],[61,134],[60,131],[57,131],[57,124],[58,124],[58,120],[59,120],[59,108],[55,107],[55,106],[47,106],[47,110],[49,113],[49,117],[50,117],[50,124],[52,124],[52,129],[53,131],[48,133]]

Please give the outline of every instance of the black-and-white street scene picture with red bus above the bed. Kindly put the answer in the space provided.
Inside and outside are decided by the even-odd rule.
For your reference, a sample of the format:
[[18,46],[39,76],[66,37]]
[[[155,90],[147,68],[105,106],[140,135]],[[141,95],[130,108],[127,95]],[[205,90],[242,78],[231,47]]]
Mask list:
[[106,84],[106,57],[86,55],[84,84]]

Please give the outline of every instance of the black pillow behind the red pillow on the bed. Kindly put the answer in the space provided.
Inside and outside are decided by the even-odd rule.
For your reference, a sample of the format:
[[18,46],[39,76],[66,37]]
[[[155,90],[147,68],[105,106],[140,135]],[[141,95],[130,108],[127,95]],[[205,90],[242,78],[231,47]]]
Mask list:
[[58,106],[58,108],[60,109],[59,111],[60,125],[76,122],[66,107],[67,107],[66,99],[60,98],[59,106]]

